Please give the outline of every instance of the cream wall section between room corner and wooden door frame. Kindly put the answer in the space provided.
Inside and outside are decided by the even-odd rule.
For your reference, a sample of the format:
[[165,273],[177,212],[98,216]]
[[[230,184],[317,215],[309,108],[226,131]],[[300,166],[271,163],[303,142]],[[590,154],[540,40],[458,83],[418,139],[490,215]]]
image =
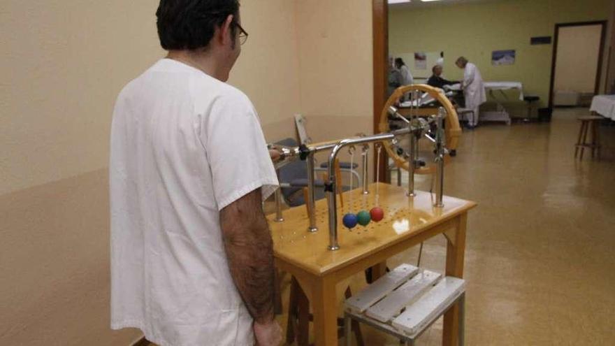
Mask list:
[[[301,111],[307,120],[324,117],[326,124],[327,117],[345,116],[371,121],[372,1],[300,0],[296,24]],[[372,129],[361,124],[339,135],[356,131]]]

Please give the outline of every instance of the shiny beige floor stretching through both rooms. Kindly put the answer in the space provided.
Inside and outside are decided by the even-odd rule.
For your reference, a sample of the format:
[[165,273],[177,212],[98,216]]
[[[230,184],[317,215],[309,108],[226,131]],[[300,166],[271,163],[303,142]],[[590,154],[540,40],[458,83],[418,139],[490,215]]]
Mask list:
[[[468,221],[466,345],[615,345],[615,126],[601,128],[601,161],[587,152],[575,161],[576,117],[587,113],[463,133],[445,193],[479,203]],[[416,263],[417,254],[389,266]],[[433,238],[421,266],[443,271],[444,255],[444,238]],[[365,286],[362,275],[349,283]],[[440,345],[441,333],[439,321],[418,345]],[[400,345],[365,326],[363,336],[366,345]]]

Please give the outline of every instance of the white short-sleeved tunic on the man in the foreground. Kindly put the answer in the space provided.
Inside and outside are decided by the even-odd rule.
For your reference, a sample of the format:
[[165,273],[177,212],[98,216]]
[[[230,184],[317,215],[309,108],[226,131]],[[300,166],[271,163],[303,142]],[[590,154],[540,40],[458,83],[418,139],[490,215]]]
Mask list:
[[219,211],[277,185],[238,89],[171,59],[126,85],[111,129],[111,327],[161,346],[252,346]]

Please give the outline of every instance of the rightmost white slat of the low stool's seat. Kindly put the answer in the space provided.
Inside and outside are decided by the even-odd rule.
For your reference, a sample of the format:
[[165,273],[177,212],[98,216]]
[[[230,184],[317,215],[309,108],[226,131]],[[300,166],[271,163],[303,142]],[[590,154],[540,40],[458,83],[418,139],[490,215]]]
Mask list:
[[456,298],[465,291],[465,281],[457,277],[444,277],[414,304],[393,319],[392,325],[407,335],[420,333],[428,324],[441,315]]

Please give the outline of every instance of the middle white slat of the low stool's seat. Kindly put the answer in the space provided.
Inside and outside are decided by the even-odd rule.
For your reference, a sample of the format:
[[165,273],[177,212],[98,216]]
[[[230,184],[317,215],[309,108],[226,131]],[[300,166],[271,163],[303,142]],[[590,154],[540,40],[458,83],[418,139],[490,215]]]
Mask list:
[[393,317],[399,315],[403,308],[412,304],[425,291],[433,287],[439,279],[440,273],[422,271],[401,287],[392,291],[382,301],[368,308],[366,315],[379,322],[389,322]]

